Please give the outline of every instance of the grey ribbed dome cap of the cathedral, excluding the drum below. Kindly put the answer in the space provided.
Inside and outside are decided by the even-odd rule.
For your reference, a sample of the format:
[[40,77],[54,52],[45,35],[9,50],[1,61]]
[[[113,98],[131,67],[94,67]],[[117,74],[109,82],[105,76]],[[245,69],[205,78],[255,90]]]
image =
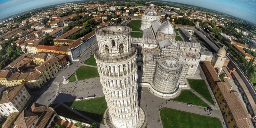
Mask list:
[[172,23],[169,21],[170,18],[166,18],[167,21],[164,21],[162,25],[158,28],[159,33],[164,34],[164,35],[175,35],[174,28],[172,26]]

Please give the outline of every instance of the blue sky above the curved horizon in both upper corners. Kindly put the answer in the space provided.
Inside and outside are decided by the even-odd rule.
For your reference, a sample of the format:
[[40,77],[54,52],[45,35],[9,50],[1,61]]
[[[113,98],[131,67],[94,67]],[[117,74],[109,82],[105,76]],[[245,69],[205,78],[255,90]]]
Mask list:
[[[0,0],[0,19],[32,9],[80,0]],[[256,0],[164,0],[224,12],[256,24]]]

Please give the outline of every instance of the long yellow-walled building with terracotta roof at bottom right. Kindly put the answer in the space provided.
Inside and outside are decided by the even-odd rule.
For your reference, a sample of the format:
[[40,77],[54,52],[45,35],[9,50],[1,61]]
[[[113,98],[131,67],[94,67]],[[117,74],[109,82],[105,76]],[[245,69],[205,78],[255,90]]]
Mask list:
[[252,121],[246,114],[236,92],[230,90],[225,82],[217,82],[213,89],[221,113],[229,128],[253,128]]

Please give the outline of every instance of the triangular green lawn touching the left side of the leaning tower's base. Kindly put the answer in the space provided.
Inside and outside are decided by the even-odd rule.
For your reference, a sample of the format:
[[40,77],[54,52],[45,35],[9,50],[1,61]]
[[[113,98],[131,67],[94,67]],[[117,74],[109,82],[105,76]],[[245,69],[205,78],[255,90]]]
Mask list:
[[92,100],[66,102],[65,104],[71,108],[74,108],[85,116],[104,124],[103,115],[105,110],[108,108],[105,97],[99,97]]

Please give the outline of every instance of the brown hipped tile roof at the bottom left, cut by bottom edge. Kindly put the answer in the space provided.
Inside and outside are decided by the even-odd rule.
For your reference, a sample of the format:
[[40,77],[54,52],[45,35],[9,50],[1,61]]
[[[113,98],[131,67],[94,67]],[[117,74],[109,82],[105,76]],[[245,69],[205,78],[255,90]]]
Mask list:
[[37,117],[38,115],[28,110],[23,110],[14,124],[16,125],[16,128],[31,128]]

